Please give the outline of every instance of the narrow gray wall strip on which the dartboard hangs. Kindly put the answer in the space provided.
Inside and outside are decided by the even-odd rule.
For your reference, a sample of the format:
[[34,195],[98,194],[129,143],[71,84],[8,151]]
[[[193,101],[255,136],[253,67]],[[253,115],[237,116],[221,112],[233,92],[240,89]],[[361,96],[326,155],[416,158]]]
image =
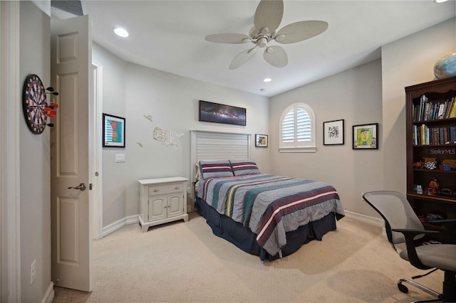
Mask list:
[[[28,74],[36,74],[47,87],[51,71],[51,18],[29,1],[21,1],[20,11],[21,81],[24,83]],[[42,134],[32,134],[23,115],[19,128],[21,301],[38,302],[51,285],[50,129],[46,127]],[[31,284],[30,265],[33,260],[36,260],[36,278]]]

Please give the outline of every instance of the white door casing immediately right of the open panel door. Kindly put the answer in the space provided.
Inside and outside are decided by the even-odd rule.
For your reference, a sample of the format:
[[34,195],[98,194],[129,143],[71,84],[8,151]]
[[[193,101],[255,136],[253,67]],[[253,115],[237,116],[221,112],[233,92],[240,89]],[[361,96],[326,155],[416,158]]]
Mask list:
[[92,61],[93,73],[93,240],[103,238],[103,65]]

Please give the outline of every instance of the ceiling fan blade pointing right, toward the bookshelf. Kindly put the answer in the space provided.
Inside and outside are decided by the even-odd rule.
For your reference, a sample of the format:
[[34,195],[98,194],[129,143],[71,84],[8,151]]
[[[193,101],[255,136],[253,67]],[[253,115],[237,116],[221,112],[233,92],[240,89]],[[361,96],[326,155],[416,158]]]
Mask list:
[[326,31],[326,28],[328,23],[325,21],[291,23],[276,33],[274,40],[283,44],[295,43],[317,36]]

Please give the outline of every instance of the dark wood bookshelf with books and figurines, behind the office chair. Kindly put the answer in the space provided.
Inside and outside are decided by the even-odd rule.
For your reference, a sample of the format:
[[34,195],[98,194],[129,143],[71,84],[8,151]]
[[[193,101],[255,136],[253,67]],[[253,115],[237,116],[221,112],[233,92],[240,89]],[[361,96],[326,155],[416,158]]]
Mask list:
[[[413,107],[420,105],[423,95],[428,102],[445,102],[456,97],[456,76],[441,80],[433,80],[427,83],[405,87],[406,104],[406,167],[407,167],[407,198],[415,213],[420,217],[433,213],[442,216],[444,219],[456,219],[456,168],[450,171],[440,170],[443,160],[456,160],[456,144],[415,144],[414,125],[425,124],[428,128],[455,127],[456,118],[448,117],[442,119],[413,119]],[[456,100],[455,100],[456,102]],[[416,114],[415,114],[416,115]],[[449,135],[450,136],[450,135]],[[426,169],[424,166],[417,168],[415,163],[424,164],[424,158],[435,159],[435,169]],[[449,188],[453,196],[440,194],[428,194],[429,182],[436,178],[439,183],[439,190]],[[423,188],[423,193],[416,192],[416,186]],[[423,223],[425,228],[439,230],[440,235],[435,240],[447,242],[450,239],[448,229],[437,223]]]

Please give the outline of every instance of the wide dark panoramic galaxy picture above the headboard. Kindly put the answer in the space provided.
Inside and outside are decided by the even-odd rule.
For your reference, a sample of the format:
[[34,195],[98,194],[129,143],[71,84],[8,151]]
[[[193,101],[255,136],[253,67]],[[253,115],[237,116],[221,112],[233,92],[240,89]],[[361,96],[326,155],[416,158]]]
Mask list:
[[246,125],[246,109],[199,100],[199,121]]

